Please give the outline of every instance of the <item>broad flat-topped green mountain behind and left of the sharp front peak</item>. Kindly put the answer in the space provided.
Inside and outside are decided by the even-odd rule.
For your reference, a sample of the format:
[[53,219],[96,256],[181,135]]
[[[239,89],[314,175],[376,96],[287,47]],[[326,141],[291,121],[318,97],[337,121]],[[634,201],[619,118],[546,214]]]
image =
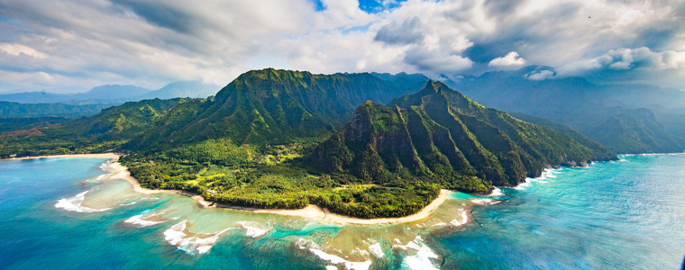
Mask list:
[[169,149],[206,139],[266,148],[302,139],[324,138],[352,118],[366,100],[380,103],[406,94],[369,74],[314,75],[253,70],[226,85],[215,99],[178,106],[133,149]]

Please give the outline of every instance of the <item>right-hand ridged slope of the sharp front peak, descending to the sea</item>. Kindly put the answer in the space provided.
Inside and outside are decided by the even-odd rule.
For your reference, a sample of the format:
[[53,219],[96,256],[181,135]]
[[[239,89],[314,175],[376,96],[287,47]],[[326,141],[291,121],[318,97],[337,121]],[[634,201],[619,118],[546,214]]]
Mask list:
[[450,130],[479,176],[493,184],[518,184],[540,175],[546,166],[581,166],[616,155],[587,148],[568,135],[520,121],[489,109],[442,83],[429,83],[388,106],[421,106],[435,122]]

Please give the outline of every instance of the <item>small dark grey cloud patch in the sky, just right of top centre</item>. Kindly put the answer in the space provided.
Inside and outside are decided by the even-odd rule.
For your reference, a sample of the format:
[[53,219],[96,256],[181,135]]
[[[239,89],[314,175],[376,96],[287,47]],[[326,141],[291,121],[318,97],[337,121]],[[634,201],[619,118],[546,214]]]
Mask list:
[[390,23],[380,28],[373,40],[394,45],[419,43],[425,38],[421,26],[421,19],[416,16],[402,23]]

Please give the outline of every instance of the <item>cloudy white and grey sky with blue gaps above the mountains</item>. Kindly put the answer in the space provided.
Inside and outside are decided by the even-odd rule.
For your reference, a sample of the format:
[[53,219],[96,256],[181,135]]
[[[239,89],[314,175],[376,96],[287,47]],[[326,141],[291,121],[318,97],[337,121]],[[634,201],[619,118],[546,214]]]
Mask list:
[[685,0],[0,0],[0,92],[226,85],[266,67],[685,90]]

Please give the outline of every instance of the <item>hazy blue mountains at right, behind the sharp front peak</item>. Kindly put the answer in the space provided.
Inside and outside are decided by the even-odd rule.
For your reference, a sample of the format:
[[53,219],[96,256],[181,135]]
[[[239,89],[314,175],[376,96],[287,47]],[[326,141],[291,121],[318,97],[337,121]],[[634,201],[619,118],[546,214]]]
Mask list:
[[675,106],[685,102],[685,94],[679,90],[650,85],[594,85],[580,77],[531,79],[541,72],[553,73],[553,68],[488,72],[452,81],[450,85],[489,107],[569,125],[618,153],[682,151],[681,140],[674,139],[674,134],[667,130],[679,130],[685,122],[669,121],[664,126],[656,120],[660,117],[647,117],[648,113],[643,112],[645,108],[654,108],[655,103],[664,103],[672,106],[664,109],[664,115],[682,113],[673,112]]

